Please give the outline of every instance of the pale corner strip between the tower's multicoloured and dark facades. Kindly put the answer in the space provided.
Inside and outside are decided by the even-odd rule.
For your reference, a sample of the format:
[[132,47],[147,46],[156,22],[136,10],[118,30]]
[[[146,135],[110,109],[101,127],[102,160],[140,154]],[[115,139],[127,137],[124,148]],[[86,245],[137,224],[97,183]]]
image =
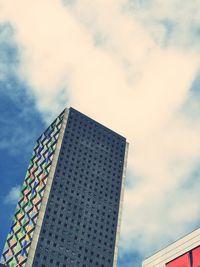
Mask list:
[[52,186],[52,182],[53,182],[53,178],[54,178],[54,174],[55,174],[55,170],[56,170],[56,166],[57,166],[57,162],[58,162],[59,151],[61,149],[63,136],[64,136],[66,125],[67,125],[68,115],[69,115],[69,109],[66,108],[65,111],[64,111],[64,117],[63,117],[63,121],[62,121],[62,126],[61,126],[60,133],[59,133],[59,136],[58,136],[58,141],[57,141],[57,144],[56,144],[56,149],[55,149],[55,152],[54,152],[51,168],[50,168],[50,171],[49,171],[49,176],[48,176],[46,188],[45,188],[45,191],[44,191],[44,196],[43,196],[43,199],[42,199],[39,215],[38,215],[38,218],[37,218],[36,227],[35,227],[35,230],[34,230],[31,246],[30,246],[30,249],[29,249],[28,258],[27,258],[27,262],[26,262],[26,267],[32,267],[32,264],[33,264],[35,251],[36,251],[36,248],[37,248],[37,243],[38,243],[38,239],[39,239],[39,236],[40,236],[40,231],[41,231],[41,228],[42,228],[42,223],[43,223],[43,219],[44,219],[44,215],[45,215],[45,211],[46,211],[46,206],[47,206],[47,203],[48,203],[49,194],[50,194],[50,191],[51,191],[51,186]]

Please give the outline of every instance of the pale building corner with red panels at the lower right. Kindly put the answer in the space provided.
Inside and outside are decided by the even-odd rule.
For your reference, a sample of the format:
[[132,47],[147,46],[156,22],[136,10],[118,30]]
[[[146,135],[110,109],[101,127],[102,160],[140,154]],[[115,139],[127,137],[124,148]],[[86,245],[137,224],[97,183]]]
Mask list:
[[200,267],[200,228],[146,259],[142,267]]

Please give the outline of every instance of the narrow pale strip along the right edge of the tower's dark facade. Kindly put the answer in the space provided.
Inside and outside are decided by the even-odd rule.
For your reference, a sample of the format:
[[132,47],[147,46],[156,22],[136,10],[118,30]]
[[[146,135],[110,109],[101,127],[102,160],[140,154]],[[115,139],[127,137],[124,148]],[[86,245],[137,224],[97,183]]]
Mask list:
[[127,169],[127,160],[128,160],[128,149],[129,149],[129,143],[126,142],[125,154],[124,154],[124,166],[123,166],[123,172],[122,172],[122,184],[121,184],[121,193],[120,193],[119,214],[118,214],[118,222],[117,222],[117,233],[116,233],[116,239],[115,239],[113,267],[117,267],[119,238],[120,238],[121,220],[122,220],[122,208],[123,208],[123,202],[124,202],[126,169]]

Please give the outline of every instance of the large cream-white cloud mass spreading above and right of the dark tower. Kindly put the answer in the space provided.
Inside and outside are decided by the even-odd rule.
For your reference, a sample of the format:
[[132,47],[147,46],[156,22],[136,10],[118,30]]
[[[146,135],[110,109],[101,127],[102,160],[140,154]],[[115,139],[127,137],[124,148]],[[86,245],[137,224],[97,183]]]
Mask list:
[[[185,39],[173,35],[164,48],[165,29],[156,21],[191,25],[193,14],[185,12],[194,3],[182,14],[177,1],[154,1],[132,16],[116,0],[80,0],[70,9],[56,0],[0,3],[1,19],[14,25],[23,48],[20,74],[38,109],[55,116],[69,101],[127,136],[134,176],[125,193],[123,249],[147,255],[191,230],[200,214],[199,187],[187,191],[182,183],[199,160],[200,123],[181,107],[199,70],[198,45],[186,50],[185,30]],[[97,34],[104,37],[98,46]]]

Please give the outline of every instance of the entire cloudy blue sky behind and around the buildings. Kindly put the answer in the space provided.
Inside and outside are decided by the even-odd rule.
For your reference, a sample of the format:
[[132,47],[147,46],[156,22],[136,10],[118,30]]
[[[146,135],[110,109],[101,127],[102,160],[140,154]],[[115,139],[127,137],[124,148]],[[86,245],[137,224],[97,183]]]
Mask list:
[[129,142],[118,267],[198,228],[199,52],[198,0],[0,0],[0,250],[66,106]]

